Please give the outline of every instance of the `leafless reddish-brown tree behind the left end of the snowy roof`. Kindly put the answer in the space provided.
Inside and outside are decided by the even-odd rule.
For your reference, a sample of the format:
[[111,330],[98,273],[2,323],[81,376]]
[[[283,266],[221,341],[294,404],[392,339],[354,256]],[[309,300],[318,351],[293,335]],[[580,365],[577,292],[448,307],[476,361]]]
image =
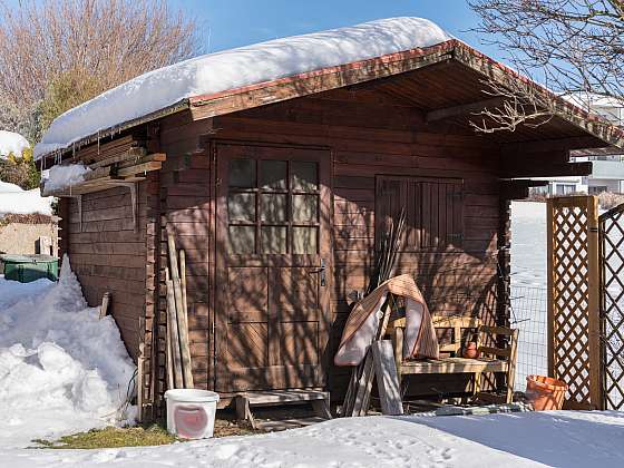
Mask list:
[[[166,0],[0,0],[0,96],[32,108],[53,80],[90,98],[201,52],[195,21]],[[6,104],[7,105],[7,104]]]

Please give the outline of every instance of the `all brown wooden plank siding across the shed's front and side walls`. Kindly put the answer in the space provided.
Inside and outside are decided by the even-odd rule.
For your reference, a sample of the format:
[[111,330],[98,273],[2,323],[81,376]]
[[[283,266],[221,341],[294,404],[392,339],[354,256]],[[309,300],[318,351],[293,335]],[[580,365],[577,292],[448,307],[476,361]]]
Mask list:
[[[443,123],[427,125],[417,108],[368,91],[330,91],[196,121],[191,113],[182,111],[147,128],[148,150],[165,153],[167,159],[162,170],[140,184],[139,233],[134,234],[128,222],[124,195],[128,191],[114,188],[84,197],[82,233],[77,232],[76,202],[67,204],[70,222],[61,225],[61,246],[67,244],[90,304],[99,302],[104,289],[113,290],[114,315],[131,352],[138,326],[135,318],[145,311],[146,343],[153,333],[157,340],[154,350],[146,347],[146,354],[156,362],[155,368],[147,364],[146,374],[152,376],[157,396],[166,389],[164,269],[168,264],[166,233],[173,232],[187,260],[194,381],[197,388],[211,389],[214,365],[220,363],[214,355],[214,314],[224,313],[214,310],[214,203],[220,183],[214,145],[329,148],[333,197],[330,359],[349,313],[348,296],[368,283],[377,177],[381,175],[461,182],[461,247],[406,252],[398,273],[415,274],[435,313],[478,315],[491,323],[497,311],[494,292],[501,226],[499,146],[461,131]],[[116,303],[117,296],[123,299]],[[331,369],[333,398],[340,398],[345,388],[345,371]],[[456,377],[428,379],[415,379],[419,383],[410,390],[438,394],[440,390],[462,391],[467,384]]]

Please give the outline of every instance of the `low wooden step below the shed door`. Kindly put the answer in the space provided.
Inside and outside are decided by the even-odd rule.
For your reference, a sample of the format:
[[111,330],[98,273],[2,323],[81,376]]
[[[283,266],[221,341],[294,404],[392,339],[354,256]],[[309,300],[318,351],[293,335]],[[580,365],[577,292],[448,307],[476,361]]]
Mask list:
[[330,393],[321,390],[267,390],[248,391],[236,394],[234,404],[238,419],[250,422],[252,428],[259,429],[252,408],[275,407],[284,404],[310,403],[319,418],[331,419]]

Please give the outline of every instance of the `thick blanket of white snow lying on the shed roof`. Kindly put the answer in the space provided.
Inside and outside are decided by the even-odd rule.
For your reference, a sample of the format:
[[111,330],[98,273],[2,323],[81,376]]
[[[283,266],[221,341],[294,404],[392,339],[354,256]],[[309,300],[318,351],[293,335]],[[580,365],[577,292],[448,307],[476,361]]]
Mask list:
[[271,40],[197,57],[134,78],[58,117],[35,156],[160,110],[184,98],[211,95],[305,71],[451,39],[422,18],[390,18],[348,28]]

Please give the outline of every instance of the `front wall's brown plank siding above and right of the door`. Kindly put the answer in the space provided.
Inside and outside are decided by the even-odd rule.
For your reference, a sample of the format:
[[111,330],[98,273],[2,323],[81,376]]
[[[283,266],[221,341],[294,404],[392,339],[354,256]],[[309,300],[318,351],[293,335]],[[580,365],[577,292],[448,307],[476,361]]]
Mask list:
[[[311,145],[332,150],[333,355],[349,313],[348,296],[368,284],[376,238],[376,176],[452,178],[462,182],[461,248],[406,252],[398,273],[411,273],[436,313],[496,321],[498,243],[498,148],[474,135],[426,126],[421,115],[393,103],[371,103],[330,91],[265,106],[213,121],[215,140],[266,145]],[[218,313],[218,311],[216,311]],[[218,357],[216,357],[218,365]],[[345,387],[344,369],[333,369],[334,398]],[[462,391],[466,379],[419,379],[416,392]],[[442,379],[443,381],[443,379]],[[412,386],[415,387],[415,386]],[[437,389],[437,390],[435,390]],[[449,390],[451,391],[451,390]]]

